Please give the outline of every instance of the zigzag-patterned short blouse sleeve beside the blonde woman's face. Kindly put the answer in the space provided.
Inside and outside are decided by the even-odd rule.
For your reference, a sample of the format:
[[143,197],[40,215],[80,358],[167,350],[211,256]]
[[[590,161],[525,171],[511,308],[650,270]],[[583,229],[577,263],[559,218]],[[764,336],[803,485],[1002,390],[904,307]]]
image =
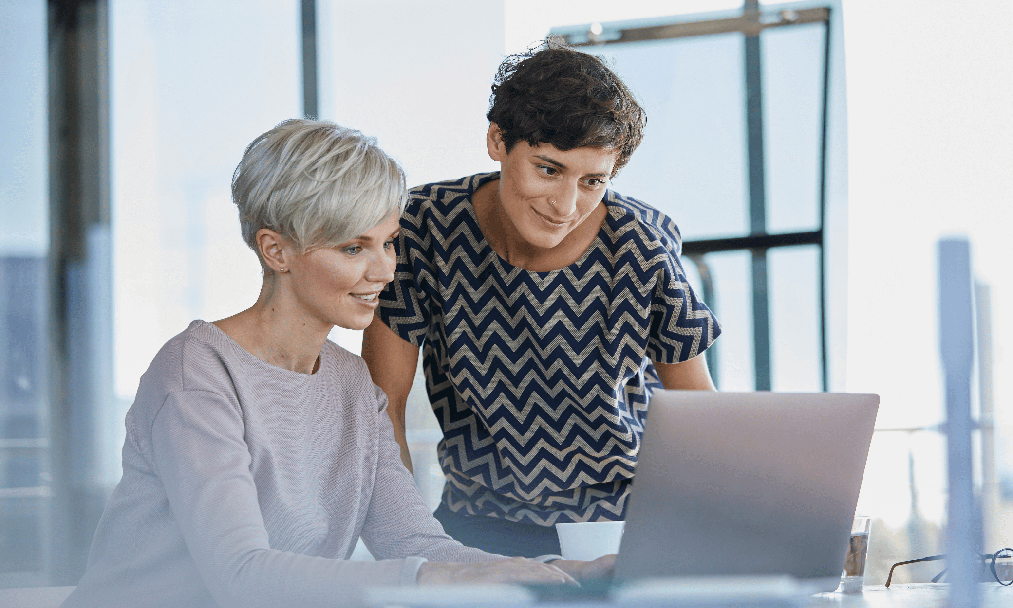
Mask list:
[[432,256],[425,251],[426,223],[422,200],[413,196],[401,213],[401,233],[394,241],[397,267],[394,280],[380,292],[377,315],[403,340],[421,347],[430,327],[431,296],[425,288],[433,278]]

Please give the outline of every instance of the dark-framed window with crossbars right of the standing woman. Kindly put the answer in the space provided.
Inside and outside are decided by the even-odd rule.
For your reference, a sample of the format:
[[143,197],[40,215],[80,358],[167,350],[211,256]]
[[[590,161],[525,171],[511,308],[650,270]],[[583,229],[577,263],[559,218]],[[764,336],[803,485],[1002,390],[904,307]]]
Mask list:
[[[683,231],[683,259],[725,327],[723,390],[827,390],[831,141],[843,123],[825,5],[555,28],[605,58],[642,101],[643,144],[613,180]],[[830,95],[828,95],[830,91]]]

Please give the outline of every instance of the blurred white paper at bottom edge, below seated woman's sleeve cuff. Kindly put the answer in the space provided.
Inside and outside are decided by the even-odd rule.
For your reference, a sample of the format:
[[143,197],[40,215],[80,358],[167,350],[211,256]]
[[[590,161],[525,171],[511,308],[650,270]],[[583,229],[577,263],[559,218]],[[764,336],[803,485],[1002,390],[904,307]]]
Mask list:
[[534,594],[524,587],[505,584],[367,587],[364,598],[368,606],[495,606],[535,602]]

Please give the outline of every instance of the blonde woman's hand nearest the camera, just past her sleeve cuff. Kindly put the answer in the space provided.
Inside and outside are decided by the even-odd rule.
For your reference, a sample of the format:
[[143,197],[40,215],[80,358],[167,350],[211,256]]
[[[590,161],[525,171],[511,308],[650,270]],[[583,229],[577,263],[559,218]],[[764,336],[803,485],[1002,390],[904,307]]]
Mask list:
[[[602,559],[604,559],[603,557]],[[542,583],[576,585],[576,581],[553,563],[542,563],[525,557],[512,557],[498,561],[457,563],[453,561],[426,561],[418,568],[419,585],[450,585],[454,583]],[[567,561],[565,563],[596,563],[596,561]]]

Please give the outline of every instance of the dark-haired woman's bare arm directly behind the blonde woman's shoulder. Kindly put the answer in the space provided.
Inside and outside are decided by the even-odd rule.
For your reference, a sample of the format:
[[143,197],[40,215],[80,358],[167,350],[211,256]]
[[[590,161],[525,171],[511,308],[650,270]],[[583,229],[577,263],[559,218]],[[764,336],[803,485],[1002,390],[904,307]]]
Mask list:
[[374,317],[363,333],[363,359],[370,368],[373,383],[387,395],[390,404],[387,415],[394,425],[394,439],[401,446],[401,462],[410,471],[411,456],[404,436],[404,407],[415,378],[418,348],[401,339],[382,319]]

